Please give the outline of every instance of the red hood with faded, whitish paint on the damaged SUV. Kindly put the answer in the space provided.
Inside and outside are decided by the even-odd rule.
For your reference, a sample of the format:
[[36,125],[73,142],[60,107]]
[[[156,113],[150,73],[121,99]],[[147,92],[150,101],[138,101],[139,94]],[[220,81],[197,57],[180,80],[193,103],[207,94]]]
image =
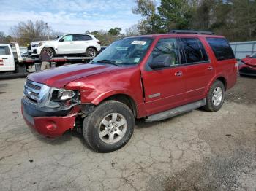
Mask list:
[[76,79],[89,77],[94,74],[116,71],[122,68],[123,67],[111,65],[79,63],[29,74],[29,79],[50,87],[62,88],[67,85],[67,83]]

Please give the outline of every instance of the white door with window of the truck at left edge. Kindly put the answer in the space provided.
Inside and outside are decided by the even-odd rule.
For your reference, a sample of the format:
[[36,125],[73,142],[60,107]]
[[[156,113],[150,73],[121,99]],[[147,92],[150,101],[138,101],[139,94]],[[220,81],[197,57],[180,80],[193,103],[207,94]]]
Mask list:
[[14,71],[15,62],[8,45],[0,45],[0,71]]

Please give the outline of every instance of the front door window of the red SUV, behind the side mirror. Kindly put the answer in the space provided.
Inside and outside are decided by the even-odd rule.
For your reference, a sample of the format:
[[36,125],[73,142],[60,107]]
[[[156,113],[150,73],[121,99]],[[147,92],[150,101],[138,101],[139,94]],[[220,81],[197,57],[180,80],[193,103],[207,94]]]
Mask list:
[[180,63],[178,45],[175,38],[171,39],[159,39],[156,47],[154,47],[153,52],[148,60],[148,63],[153,61],[154,58],[159,57],[165,58],[163,55],[168,55],[170,58],[170,66],[175,66]]

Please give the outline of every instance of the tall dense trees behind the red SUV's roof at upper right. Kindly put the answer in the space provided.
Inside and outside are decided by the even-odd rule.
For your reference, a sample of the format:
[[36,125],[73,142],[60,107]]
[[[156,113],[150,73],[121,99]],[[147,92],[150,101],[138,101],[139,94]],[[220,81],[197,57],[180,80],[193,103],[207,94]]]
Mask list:
[[135,0],[135,14],[143,18],[140,34],[162,34],[172,29],[214,31],[230,42],[256,39],[255,0]]

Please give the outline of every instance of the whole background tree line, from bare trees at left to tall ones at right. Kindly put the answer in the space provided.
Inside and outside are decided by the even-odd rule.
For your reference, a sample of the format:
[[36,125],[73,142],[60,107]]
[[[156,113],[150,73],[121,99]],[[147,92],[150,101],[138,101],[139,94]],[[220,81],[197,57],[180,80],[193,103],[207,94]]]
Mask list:
[[[108,31],[86,31],[108,45],[125,36],[166,34],[172,29],[214,31],[230,42],[256,40],[256,0],[135,0],[132,13],[141,15],[139,23]],[[54,39],[54,31],[42,20],[20,22],[10,28],[10,35],[0,31],[0,43],[18,42],[26,46],[34,41]]]

